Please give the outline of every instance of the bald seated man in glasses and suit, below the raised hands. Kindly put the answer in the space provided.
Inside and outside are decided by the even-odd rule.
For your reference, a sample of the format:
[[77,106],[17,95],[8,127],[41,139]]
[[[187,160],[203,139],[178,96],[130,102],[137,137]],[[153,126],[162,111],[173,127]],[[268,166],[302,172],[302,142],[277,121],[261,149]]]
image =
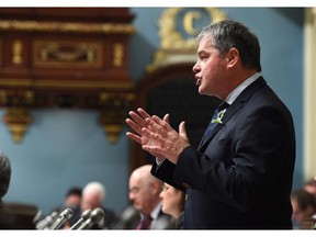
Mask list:
[[[136,229],[163,229],[169,227],[170,215],[161,211],[162,182],[150,173],[151,165],[135,169],[129,176],[129,201],[139,211]],[[166,222],[165,222],[166,221]]]

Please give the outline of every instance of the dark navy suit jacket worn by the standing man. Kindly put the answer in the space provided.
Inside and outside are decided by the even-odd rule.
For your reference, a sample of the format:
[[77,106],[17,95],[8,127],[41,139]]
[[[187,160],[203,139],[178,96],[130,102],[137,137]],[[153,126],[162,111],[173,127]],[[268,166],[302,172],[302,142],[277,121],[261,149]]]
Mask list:
[[187,189],[184,228],[292,228],[290,194],[295,162],[292,115],[262,77],[226,110],[223,124],[177,166],[151,173]]

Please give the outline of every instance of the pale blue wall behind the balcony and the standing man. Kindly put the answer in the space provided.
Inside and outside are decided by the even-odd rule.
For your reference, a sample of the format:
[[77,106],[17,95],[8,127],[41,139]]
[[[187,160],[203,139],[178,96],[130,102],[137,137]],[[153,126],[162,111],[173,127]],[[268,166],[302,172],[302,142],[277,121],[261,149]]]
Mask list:
[[[131,41],[129,70],[135,82],[144,77],[159,46],[158,20],[163,8],[132,8],[136,33]],[[223,8],[227,16],[257,33],[262,50],[262,74],[292,111],[297,139],[294,187],[302,185],[303,159],[303,9]],[[193,79],[193,78],[192,78]],[[4,111],[0,110],[0,117]],[[33,110],[34,123],[21,144],[14,144],[0,123],[0,149],[12,162],[12,180],[5,201],[36,204],[48,214],[70,185],[101,181],[104,204],[121,212],[127,205],[127,127],[111,145],[95,111]]]

